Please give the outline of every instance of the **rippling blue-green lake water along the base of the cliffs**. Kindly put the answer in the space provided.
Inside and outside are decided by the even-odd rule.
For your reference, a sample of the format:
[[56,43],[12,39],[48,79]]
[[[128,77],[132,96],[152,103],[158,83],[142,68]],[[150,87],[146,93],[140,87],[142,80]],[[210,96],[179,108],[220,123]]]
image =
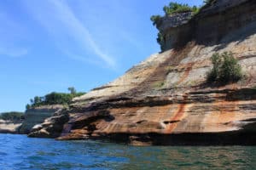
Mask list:
[[0,169],[256,169],[256,147],[135,147],[0,134]]

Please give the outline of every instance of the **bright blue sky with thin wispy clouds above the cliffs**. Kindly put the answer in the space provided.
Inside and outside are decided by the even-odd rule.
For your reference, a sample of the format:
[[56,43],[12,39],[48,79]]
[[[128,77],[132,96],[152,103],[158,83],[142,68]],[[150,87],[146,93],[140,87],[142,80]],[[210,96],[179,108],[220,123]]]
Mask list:
[[[178,3],[201,5],[201,0]],[[149,20],[170,0],[0,2],[0,112],[35,95],[89,91],[160,51]]]

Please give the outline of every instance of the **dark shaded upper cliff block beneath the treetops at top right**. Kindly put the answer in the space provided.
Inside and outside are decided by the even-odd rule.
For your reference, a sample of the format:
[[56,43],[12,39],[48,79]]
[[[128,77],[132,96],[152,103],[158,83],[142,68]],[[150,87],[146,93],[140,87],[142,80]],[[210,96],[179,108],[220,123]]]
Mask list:
[[[241,41],[255,33],[254,8],[253,0],[218,0],[202,8],[201,12],[189,21],[189,13],[185,15],[187,17],[177,15],[181,20],[179,22],[166,20],[165,17],[159,27],[164,37],[163,47],[165,50],[180,49],[191,41],[203,46]],[[175,15],[171,16],[173,17]]]

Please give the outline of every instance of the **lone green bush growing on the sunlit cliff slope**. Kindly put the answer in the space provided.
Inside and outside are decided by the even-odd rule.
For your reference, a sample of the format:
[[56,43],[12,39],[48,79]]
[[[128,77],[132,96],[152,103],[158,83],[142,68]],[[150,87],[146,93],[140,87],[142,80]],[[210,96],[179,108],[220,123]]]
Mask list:
[[241,79],[241,65],[231,52],[213,54],[211,60],[213,67],[207,72],[207,82],[228,83]]

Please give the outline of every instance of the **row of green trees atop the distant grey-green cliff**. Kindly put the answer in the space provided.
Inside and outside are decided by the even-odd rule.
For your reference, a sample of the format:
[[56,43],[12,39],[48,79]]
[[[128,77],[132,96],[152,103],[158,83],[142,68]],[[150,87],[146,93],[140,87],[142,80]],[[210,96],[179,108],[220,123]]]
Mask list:
[[84,95],[85,93],[77,92],[75,88],[67,88],[70,94],[52,92],[46,94],[43,97],[35,96],[34,99],[30,99],[31,104],[26,105],[26,109],[31,109],[41,105],[68,105],[72,102],[72,99]]

